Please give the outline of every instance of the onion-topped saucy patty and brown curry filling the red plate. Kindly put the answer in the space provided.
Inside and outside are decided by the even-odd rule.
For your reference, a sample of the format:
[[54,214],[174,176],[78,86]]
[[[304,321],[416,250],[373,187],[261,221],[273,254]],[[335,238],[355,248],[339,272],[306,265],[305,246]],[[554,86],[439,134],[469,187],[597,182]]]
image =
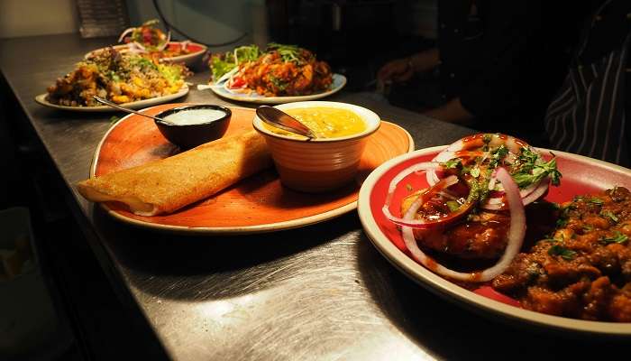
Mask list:
[[[407,184],[398,217],[390,203],[413,173],[429,188]],[[383,212],[417,263],[465,288],[489,285],[527,310],[631,322],[631,192],[543,200],[561,178],[553,154],[476,134],[399,172]]]

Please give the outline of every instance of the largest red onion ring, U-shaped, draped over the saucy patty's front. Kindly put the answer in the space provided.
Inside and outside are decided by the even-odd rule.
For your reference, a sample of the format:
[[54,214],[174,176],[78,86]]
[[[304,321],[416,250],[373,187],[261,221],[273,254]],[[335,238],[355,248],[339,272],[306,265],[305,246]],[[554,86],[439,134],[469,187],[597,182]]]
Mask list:
[[[420,248],[418,248],[412,228],[401,227],[403,241],[416,262],[425,265],[425,267],[434,273],[438,273],[453,280],[465,282],[487,282],[498,276],[498,274],[503,273],[508,268],[508,265],[510,265],[513,261],[519,252],[519,249],[521,249],[521,245],[524,243],[524,236],[526,236],[526,213],[524,211],[524,205],[522,204],[521,198],[519,197],[517,184],[508,171],[504,168],[498,168],[498,180],[504,185],[504,189],[507,192],[508,206],[510,208],[510,227],[508,228],[507,235],[508,245],[506,246],[504,254],[500,257],[498,263],[490,268],[476,273],[453,271],[442,264],[438,264],[432,258],[425,255]],[[404,219],[414,219],[416,211],[421,206],[422,202],[413,204],[413,207],[407,209]]]

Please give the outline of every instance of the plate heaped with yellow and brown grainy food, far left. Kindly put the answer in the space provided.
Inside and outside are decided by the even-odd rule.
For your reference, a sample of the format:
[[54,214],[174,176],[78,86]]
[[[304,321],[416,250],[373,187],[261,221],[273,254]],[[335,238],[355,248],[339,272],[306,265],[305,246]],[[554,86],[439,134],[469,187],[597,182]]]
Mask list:
[[184,79],[189,71],[181,64],[165,64],[114,48],[78,62],[75,69],[35,97],[43,106],[79,112],[112,111],[94,96],[129,108],[168,102],[188,93]]

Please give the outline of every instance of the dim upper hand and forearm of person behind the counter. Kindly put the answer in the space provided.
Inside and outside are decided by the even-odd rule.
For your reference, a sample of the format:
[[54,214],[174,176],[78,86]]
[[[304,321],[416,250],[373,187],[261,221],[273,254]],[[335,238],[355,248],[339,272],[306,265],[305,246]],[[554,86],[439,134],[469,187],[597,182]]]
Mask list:
[[389,61],[377,73],[377,80],[381,84],[389,82],[404,82],[412,78],[415,73],[434,69],[440,64],[438,49],[430,49],[413,54],[407,58]]

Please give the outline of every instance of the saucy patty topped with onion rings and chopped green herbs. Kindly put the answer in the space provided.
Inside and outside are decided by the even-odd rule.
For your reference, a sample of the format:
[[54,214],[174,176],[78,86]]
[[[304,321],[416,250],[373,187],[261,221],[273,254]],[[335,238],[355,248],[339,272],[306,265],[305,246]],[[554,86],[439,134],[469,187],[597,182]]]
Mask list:
[[[409,174],[422,171],[425,171],[430,187],[404,199],[403,216],[394,216],[390,203],[398,184]],[[383,213],[401,227],[407,249],[420,264],[454,280],[487,282],[506,270],[524,242],[524,206],[542,198],[549,184],[558,185],[560,179],[554,157],[545,161],[527,143],[508,135],[476,134],[453,143],[432,162],[415,164],[398,173],[389,184]],[[505,218],[502,214],[506,210],[508,228],[501,226],[501,219],[498,219]],[[441,239],[446,237],[445,229],[470,223],[476,227],[486,227],[490,223],[498,225],[498,229],[489,226],[481,232],[499,233],[482,239],[482,243],[490,243],[489,239],[499,242],[501,256],[497,264],[475,273],[456,272],[425,255],[417,244],[427,238],[426,242],[433,243],[431,248],[435,249],[437,245],[443,245]],[[466,255],[458,252],[465,257],[475,255],[475,252],[489,257],[495,255],[489,247],[467,254],[469,251],[462,251]]]

